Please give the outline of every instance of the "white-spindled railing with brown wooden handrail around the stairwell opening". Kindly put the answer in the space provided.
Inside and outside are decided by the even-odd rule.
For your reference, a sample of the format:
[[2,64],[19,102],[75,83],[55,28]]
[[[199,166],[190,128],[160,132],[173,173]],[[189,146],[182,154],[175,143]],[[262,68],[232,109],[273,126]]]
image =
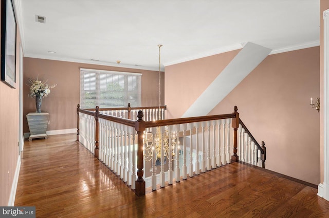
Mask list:
[[[110,114],[125,114],[123,111],[117,111]],[[150,111],[153,112],[153,108],[145,110],[145,112]],[[239,160],[239,157],[242,162],[264,167],[265,147],[263,149],[255,142],[236,111],[227,115],[148,122],[107,115],[107,112],[101,113],[98,108],[96,112],[92,112],[78,107],[77,113],[77,139],[132,189],[136,189],[136,184],[139,184],[135,182],[136,179],[145,181],[145,188],[152,187],[152,190],[156,190],[157,185],[165,187],[167,183],[170,185],[182,179],[188,179],[229,164],[234,158],[237,158],[235,161]],[[147,114],[147,117],[164,117],[158,114],[152,116],[150,113]],[[239,128],[234,128],[235,119],[239,120]],[[144,123],[142,133],[137,128],[141,121]],[[169,139],[169,157],[163,156],[162,143],[159,165],[156,163],[155,150],[151,151],[153,152],[151,161],[143,160],[143,151],[141,151],[141,158],[138,156],[140,152],[138,139],[141,139],[141,146],[146,147],[145,140],[139,137],[145,130],[148,132],[148,137],[153,135],[155,138],[157,126],[161,126],[159,128],[161,135],[163,137],[166,135]],[[174,156],[171,155],[172,143],[175,143]],[[237,152],[236,149],[234,152],[234,147]],[[137,192],[138,190],[136,194]]]

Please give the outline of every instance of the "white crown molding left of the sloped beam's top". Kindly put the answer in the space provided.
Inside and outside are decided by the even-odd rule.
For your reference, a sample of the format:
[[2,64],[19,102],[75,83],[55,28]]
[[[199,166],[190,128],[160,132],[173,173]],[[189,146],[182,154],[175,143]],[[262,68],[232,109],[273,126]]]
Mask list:
[[180,60],[167,62],[167,63],[164,63],[163,65],[165,67],[167,67],[167,66],[171,66],[171,65],[174,65],[174,64],[177,64],[177,63],[182,63],[182,62],[195,60],[195,59],[199,59],[199,58],[203,58],[203,57],[209,57],[209,56],[216,55],[216,54],[221,54],[221,53],[224,53],[224,52],[230,52],[230,51],[233,51],[233,50],[242,49],[244,47],[244,45],[245,45],[245,42],[236,43],[236,44],[233,44],[233,45],[230,45],[230,46],[221,47],[221,48],[214,49],[214,50],[211,50],[211,51],[208,51],[208,52],[205,52],[205,53],[201,53],[201,54],[193,55],[193,56],[190,56],[190,57],[186,57],[186,58],[183,58],[183,59],[180,59]]

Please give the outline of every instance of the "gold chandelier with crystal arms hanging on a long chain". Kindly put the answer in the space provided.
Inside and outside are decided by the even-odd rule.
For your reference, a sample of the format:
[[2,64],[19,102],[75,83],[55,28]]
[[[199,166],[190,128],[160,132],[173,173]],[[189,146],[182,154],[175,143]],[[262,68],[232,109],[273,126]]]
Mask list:
[[[162,45],[158,45],[159,47],[159,111],[161,108],[161,47]],[[161,119],[161,115],[159,113],[159,119]],[[162,132],[162,133],[161,133]],[[170,136],[170,134],[172,134]],[[177,140],[177,135],[175,132],[169,133],[168,127],[161,126],[156,127],[156,133],[150,134],[147,131],[144,131],[143,135],[143,144],[144,144],[144,160],[151,161],[153,158],[159,160],[161,162],[161,154],[162,149],[161,146],[163,145],[163,157],[168,160],[172,161],[176,156],[174,150],[175,145],[179,147],[179,141]],[[177,143],[178,141],[178,143]],[[155,152],[155,153],[154,153]]]

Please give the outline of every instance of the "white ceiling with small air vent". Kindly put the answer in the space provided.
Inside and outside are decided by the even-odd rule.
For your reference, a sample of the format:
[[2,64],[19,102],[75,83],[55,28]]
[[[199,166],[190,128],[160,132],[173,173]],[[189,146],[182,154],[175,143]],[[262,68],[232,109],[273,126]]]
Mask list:
[[319,45],[319,0],[13,2],[25,57],[157,70],[158,44],[161,68],[248,41],[272,53]]

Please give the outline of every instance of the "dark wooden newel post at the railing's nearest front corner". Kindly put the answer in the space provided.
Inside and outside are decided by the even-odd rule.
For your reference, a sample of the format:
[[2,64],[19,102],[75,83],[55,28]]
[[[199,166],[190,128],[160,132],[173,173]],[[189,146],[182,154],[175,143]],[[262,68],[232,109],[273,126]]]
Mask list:
[[136,180],[136,195],[142,196],[145,195],[145,181],[143,180],[143,133],[145,130],[145,121],[143,118],[143,112],[139,111],[137,114],[138,120],[135,123],[135,129],[137,131],[137,143],[138,143],[138,149],[137,149],[137,180]]

